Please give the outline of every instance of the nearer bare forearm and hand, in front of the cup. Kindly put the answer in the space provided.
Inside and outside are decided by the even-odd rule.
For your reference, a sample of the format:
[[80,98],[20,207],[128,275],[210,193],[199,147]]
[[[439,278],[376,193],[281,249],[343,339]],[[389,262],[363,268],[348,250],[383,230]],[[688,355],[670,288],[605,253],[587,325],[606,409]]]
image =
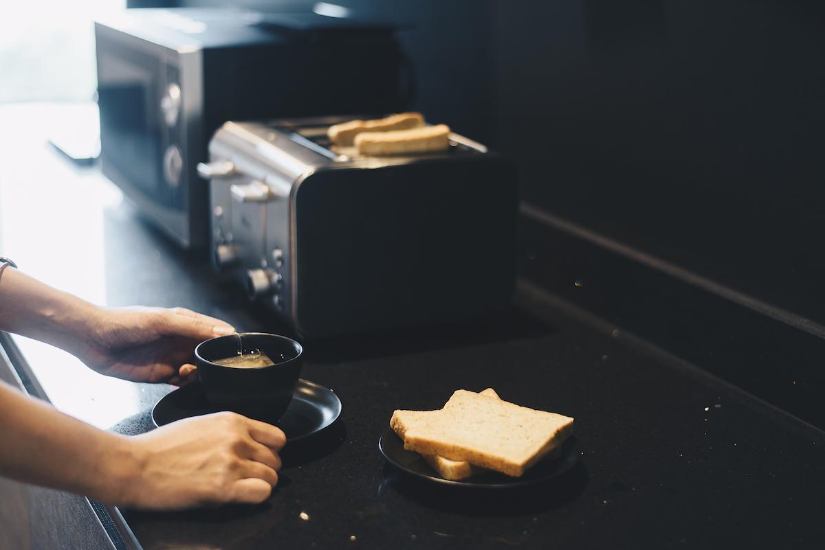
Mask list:
[[116,506],[175,510],[266,500],[284,443],[275,426],[234,413],[120,436],[0,382],[0,474]]

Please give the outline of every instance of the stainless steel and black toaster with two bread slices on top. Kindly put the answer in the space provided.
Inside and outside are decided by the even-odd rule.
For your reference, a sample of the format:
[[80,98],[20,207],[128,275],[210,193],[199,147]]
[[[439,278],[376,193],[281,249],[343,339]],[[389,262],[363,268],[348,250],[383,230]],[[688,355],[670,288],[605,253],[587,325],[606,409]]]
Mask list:
[[[503,308],[516,278],[516,173],[450,134],[447,151],[342,155],[353,117],[228,122],[210,142],[214,266],[305,338]],[[358,117],[369,118],[369,117]]]

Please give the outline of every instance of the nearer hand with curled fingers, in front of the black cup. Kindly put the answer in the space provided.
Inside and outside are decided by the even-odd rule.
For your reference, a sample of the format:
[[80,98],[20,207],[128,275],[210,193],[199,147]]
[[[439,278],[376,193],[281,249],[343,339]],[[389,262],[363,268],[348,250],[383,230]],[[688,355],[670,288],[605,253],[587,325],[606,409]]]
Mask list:
[[257,504],[278,482],[285,442],[276,426],[235,413],[186,418],[125,438],[133,460],[120,461],[127,466],[114,476],[116,500],[152,510]]

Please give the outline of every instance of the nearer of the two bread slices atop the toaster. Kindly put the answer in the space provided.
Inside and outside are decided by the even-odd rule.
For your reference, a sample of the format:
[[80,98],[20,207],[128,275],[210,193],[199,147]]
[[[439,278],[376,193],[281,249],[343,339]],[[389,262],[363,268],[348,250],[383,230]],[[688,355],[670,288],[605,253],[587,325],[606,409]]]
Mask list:
[[364,132],[356,136],[356,149],[361,155],[369,156],[445,151],[449,147],[450,127],[446,124],[393,132]]

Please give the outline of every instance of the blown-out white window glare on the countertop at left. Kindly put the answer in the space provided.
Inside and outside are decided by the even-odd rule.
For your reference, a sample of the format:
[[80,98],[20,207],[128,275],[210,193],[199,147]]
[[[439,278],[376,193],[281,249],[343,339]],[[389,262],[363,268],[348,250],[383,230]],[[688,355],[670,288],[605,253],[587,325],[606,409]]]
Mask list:
[[[95,170],[74,168],[49,150],[50,124],[63,119],[61,110],[0,110],[0,128],[13,129],[0,132],[0,250],[41,281],[107,305],[104,218],[122,206],[122,196]],[[108,427],[144,407],[144,385],[99,375],[28,338],[15,343],[52,403],[73,416]]]

